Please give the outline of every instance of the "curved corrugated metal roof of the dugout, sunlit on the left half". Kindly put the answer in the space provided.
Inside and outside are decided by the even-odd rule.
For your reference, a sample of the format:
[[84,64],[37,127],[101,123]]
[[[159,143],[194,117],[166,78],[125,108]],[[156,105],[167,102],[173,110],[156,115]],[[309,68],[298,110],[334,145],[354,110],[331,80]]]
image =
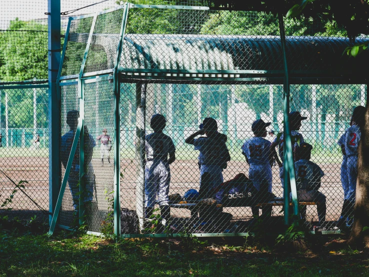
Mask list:
[[[99,69],[113,68],[118,37],[93,34],[90,50],[103,52],[106,60]],[[87,39],[88,33],[71,32],[68,37],[68,41],[82,43]],[[363,69],[369,63],[369,53],[348,57],[342,54],[348,45],[348,38],[343,37],[287,36],[291,83],[366,83]],[[87,56],[85,73],[93,71],[88,63]],[[126,79],[170,76],[237,80],[281,78],[284,74],[279,36],[126,34],[119,65],[121,76]]]

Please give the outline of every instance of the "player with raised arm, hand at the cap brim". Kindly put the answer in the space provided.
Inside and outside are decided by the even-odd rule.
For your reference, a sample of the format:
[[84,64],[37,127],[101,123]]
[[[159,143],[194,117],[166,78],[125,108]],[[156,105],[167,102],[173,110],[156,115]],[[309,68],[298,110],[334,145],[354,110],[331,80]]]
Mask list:
[[[225,135],[217,131],[218,126],[214,118],[206,117],[199,128],[200,130],[188,136],[185,142],[192,144],[195,150],[200,151],[199,194],[201,198],[209,198],[213,196],[215,188],[223,182],[222,171],[226,168],[227,161],[230,160],[230,155],[225,144]],[[195,138],[197,135],[203,134],[206,134],[206,136]],[[204,173],[208,173],[206,174],[206,182],[202,182]]]

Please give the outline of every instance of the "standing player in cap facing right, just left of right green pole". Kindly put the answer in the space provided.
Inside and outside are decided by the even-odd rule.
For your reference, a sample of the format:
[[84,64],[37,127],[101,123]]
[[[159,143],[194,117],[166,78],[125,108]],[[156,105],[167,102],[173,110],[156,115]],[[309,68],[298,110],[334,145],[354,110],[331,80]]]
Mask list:
[[[266,140],[266,127],[270,122],[264,122],[261,119],[252,122],[251,130],[253,137],[247,139],[242,145],[242,154],[246,158],[246,162],[250,165],[248,169],[248,177],[253,183],[257,191],[260,189],[271,192],[272,172],[271,164],[273,163],[270,152],[270,141]],[[267,185],[267,187],[262,186]],[[263,213],[271,215],[271,207],[268,210],[263,208]],[[252,216],[259,215],[258,207],[251,207]]]

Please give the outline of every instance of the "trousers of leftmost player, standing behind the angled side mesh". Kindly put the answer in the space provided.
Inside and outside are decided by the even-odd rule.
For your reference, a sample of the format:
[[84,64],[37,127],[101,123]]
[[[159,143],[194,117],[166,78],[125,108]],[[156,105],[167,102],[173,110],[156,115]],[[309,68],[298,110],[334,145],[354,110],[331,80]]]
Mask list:
[[[79,206],[79,165],[70,169],[68,176],[68,185],[73,199],[73,208],[78,209]],[[93,173],[92,163],[86,164],[84,173],[84,187],[85,194],[83,195],[83,202],[92,201],[93,187],[95,185],[95,174]]]

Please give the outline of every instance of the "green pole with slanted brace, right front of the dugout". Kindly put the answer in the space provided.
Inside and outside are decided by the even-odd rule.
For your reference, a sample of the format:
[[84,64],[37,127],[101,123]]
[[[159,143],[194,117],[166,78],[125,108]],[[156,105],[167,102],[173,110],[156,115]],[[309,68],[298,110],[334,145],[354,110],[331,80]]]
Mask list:
[[282,44],[282,56],[283,56],[283,68],[284,68],[284,78],[283,78],[283,137],[284,137],[284,148],[283,148],[283,196],[284,196],[284,223],[288,224],[288,208],[289,208],[289,185],[291,187],[291,196],[293,204],[293,214],[298,213],[298,201],[297,201],[297,190],[296,181],[294,174],[293,165],[293,155],[292,155],[292,142],[291,142],[291,131],[289,128],[289,79],[288,79],[288,67],[286,58],[286,42],[284,33],[283,16],[278,12],[278,22],[280,31],[280,41]]

